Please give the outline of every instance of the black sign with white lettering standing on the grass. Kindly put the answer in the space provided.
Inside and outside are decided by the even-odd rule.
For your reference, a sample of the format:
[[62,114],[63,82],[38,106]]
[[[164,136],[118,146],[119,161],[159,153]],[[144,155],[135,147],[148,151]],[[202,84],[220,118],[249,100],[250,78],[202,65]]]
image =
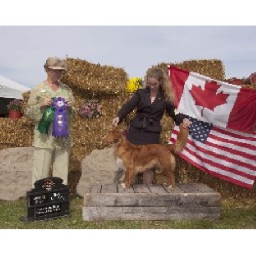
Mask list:
[[27,217],[22,221],[44,220],[69,215],[69,188],[59,177],[41,179],[27,192]]

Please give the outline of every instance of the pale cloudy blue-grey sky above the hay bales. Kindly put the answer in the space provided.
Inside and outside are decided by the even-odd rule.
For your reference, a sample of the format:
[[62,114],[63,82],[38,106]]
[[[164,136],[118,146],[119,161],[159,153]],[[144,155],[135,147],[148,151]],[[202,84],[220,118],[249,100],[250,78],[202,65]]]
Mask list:
[[72,57],[143,77],[152,65],[220,59],[226,77],[256,72],[256,26],[0,26],[0,75],[33,87],[47,57]]

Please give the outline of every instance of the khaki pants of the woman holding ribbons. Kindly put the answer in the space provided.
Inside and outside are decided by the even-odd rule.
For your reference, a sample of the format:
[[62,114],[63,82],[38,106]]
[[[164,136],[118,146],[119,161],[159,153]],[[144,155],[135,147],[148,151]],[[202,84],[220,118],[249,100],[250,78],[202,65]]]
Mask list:
[[52,176],[63,179],[63,184],[68,184],[69,148],[45,149],[34,147],[34,169],[32,186],[37,180],[49,177],[52,165]]

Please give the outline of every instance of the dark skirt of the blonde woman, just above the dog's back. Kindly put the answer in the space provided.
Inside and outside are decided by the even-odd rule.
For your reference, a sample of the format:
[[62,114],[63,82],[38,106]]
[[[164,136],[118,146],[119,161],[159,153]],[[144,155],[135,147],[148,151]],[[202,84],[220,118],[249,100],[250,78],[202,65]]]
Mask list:
[[153,133],[131,126],[127,131],[126,138],[135,145],[160,144],[160,133]]

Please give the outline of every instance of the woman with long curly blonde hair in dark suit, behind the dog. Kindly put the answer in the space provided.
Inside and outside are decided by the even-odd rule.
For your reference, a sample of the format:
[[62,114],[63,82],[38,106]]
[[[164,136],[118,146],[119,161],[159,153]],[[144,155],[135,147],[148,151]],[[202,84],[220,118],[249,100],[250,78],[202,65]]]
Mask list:
[[[130,122],[127,133],[129,142],[137,145],[159,144],[161,124],[164,112],[167,112],[177,125],[190,125],[189,119],[183,114],[175,114],[174,92],[167,73],[158,67],[150,68],[144,78],[144,87],[135,92],[134,96],[119,110],[112,121],[117,126],[125,117],[137,109],[135,117]],[[143,172],[143,183],[150,184],[154,179],[154,172]]]

